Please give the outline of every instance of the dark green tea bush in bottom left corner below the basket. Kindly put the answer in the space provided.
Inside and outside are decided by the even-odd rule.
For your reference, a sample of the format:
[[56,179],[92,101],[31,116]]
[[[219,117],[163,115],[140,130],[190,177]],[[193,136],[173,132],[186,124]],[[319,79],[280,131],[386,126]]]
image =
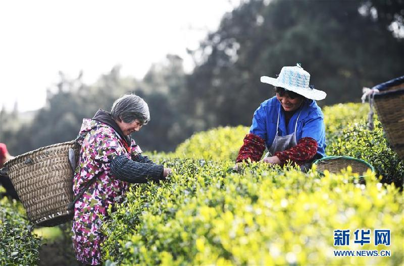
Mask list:
[[40,239],[29,232],[28,225],[20,203],[7,197],[0,200],[0,265],[38,264]]

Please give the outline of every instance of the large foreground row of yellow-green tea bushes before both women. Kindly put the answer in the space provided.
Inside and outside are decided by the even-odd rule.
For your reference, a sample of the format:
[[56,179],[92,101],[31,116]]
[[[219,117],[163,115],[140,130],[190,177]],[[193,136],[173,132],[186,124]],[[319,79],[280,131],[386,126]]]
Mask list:
[[[346,265],[404,261],[402,194],[368,173],[302,173],[292,167],[170,160],[161,185],[131,187],[110,213],[108,264]],[[390,229],[390,246],[336,247],[333,230]],[[372,233],[373,235],[373,233]],[[391,250],[391,257],[338,257],[333,250]]]

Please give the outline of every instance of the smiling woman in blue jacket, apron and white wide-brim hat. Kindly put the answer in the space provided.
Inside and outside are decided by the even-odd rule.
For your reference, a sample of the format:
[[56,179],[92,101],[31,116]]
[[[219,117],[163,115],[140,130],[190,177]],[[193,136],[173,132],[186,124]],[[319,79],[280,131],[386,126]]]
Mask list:
[[325,127],[316,100],[326,93],[309,85],[310,74],[296,66],[284,66],[278,78],[261,77],[261,82],[275,86],[276,96],[255,111],[249,134],[244,138],[236,163],[260,161],[284,164],[292,161],[308,166],[325,156]]

